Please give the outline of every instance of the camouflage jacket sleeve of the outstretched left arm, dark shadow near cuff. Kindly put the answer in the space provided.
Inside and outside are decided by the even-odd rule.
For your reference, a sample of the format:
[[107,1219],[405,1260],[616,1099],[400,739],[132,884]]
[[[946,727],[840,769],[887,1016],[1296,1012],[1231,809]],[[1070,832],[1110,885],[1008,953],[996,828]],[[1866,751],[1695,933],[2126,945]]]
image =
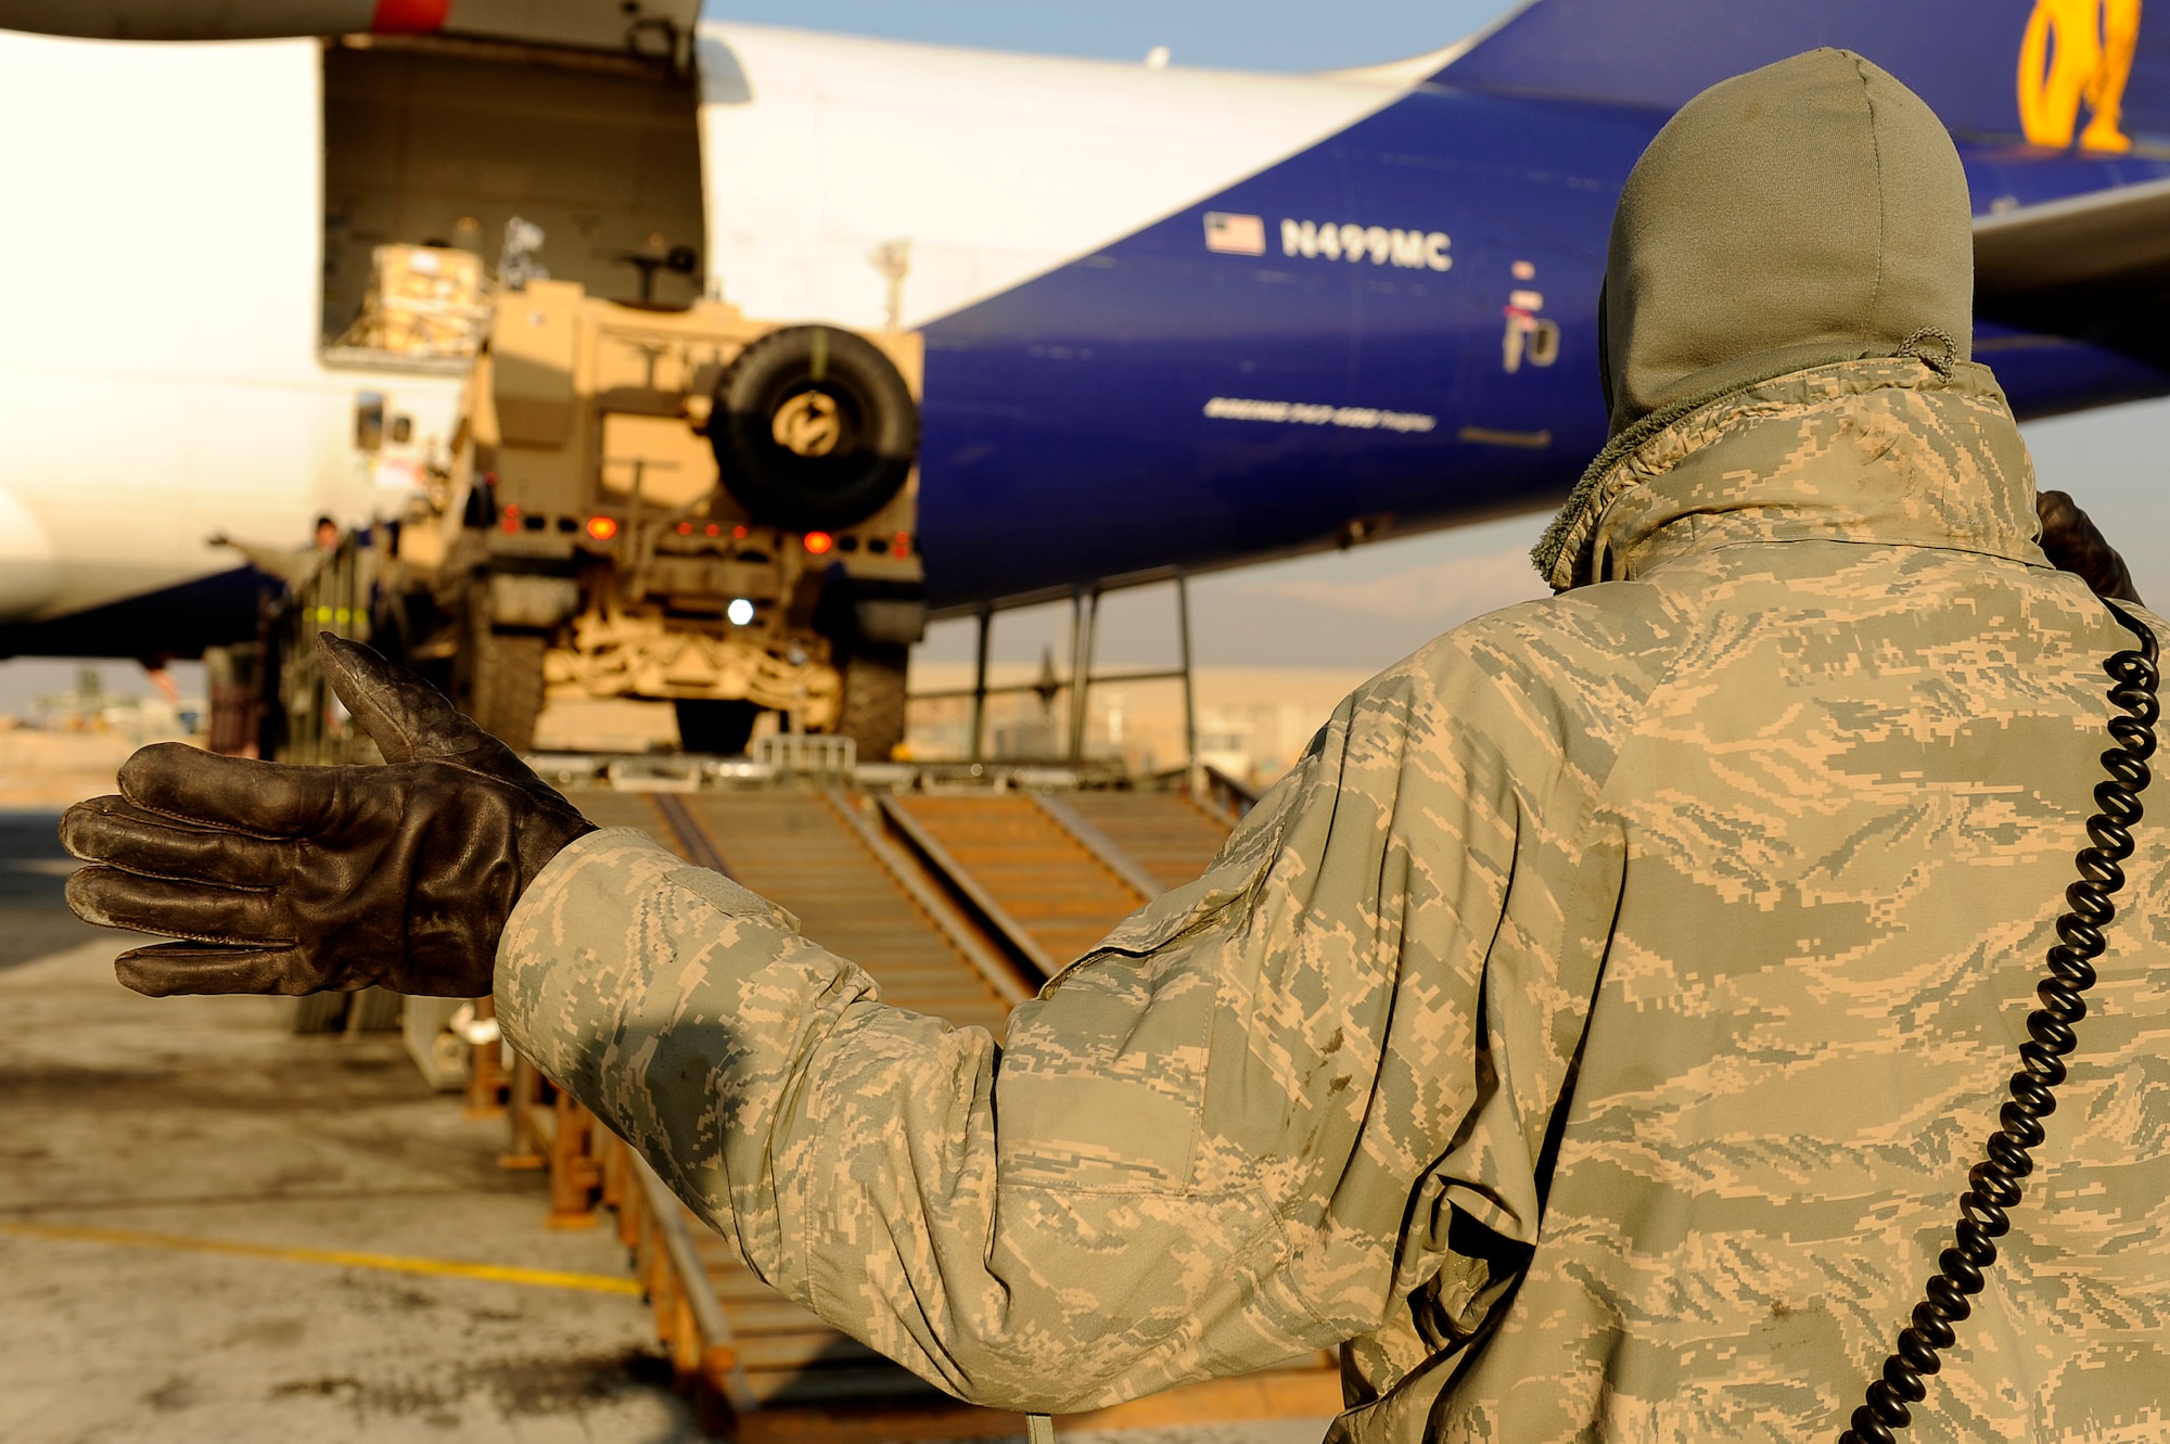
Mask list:
[[1410,1288],[1413,1214],[1445,1212],[1413,1188],[1497,1091],[1478,997],[1517,802],[1450,711],[1406,663],[1343,702],[1000,1045],[625,830],[523,898],[499,1017],[768,1284],[963,1398],[1263,1368]]

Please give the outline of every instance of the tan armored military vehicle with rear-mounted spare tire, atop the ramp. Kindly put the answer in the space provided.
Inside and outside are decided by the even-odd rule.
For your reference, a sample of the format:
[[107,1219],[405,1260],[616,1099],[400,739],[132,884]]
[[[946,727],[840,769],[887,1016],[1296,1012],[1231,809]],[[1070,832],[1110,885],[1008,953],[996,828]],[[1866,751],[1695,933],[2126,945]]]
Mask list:
[[918,388],[914,334],[506,291],[373,631],[521,748],[545,698],[623,696],[675,702],[694,752],[766,709],[885,759],[924,624]]

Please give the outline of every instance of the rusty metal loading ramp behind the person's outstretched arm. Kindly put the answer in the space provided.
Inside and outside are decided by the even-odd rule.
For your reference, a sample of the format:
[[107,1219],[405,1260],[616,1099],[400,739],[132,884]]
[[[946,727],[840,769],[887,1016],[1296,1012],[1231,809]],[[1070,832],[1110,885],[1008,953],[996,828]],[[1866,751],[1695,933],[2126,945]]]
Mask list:
[[[866,967],[888,1002],[996,1034],[1009,1008],[1031,997],[1033,974],[1089,947],[1163,878],[1196,876],[1222,837],[1209,813],[1172,794],[770,787],[569,796],[597,826],[640,828],[688,863],[783,904],[809,939]],[[1118,837],[1141,852],[1133,856]],[[519,1130],[519,1099],[512,1112]],[[547,1151],[553,1197],[592,1201],[599,1192],[616,1210],[658,1338],[710,1429],[742,1444],[1024,1433],[1022,1416],[963,1405],[770,1290],[577,1104],[560,1099],[556,1114],[553,1138],[569,1147]],[[553,1221],[569,1216],[560,1206]],[[1063,1424],[1324,1416],[1339,1407],[1330,1355],[1306,1355]]]

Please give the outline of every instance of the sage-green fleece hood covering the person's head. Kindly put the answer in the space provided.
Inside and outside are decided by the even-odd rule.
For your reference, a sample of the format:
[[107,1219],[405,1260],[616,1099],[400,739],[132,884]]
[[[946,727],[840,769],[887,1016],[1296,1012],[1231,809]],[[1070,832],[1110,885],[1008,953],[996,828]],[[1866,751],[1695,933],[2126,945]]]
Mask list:
[[1599,345],[1612,431],[1918,332],[1966,360],[1973,308],[1966,171],[1936,113],[1849,50],[1764,65],[1682,106],[1621,191]]

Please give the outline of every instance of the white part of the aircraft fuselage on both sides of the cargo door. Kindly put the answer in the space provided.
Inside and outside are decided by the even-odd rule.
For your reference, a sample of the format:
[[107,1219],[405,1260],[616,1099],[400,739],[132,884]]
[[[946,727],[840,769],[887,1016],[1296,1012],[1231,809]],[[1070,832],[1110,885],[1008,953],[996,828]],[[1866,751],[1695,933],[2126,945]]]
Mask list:
[[[727,24],[694,56],[705,288],[855,327],[1074,260],[1439,65],[1250,76]],[[397,514],[449,440],[458,375],[328,356],[323,67],[315,39],[0,33],[0,624],[232,572],[215,536],[302,549],[317,516]],[[870,258],[892,241],[894,288]],[[356,447],[362,392],[406,444]]]

